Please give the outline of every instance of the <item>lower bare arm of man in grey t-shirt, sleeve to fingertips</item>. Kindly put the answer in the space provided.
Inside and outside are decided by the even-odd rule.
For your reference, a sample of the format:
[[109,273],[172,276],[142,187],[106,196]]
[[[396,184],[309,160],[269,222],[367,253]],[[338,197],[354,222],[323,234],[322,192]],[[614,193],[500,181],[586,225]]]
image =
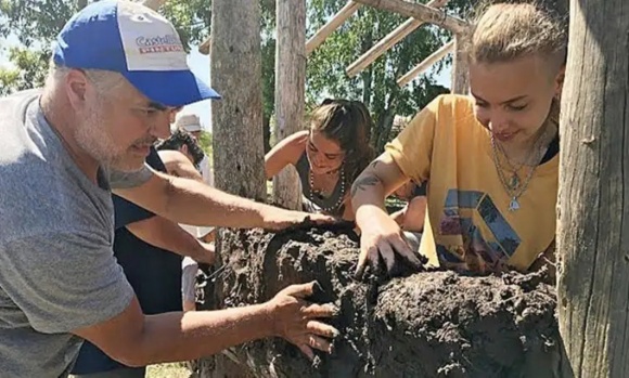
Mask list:
[[321,323],[336,310],[310,304],[313,283],[290,286],[271,301],[219,311],[143,315],[137,298],[119,315],[73,334],[128,366],[189,361],[268,337],[282,337],[312,359],[311,348],[330,352],[325,338],[338,331]]

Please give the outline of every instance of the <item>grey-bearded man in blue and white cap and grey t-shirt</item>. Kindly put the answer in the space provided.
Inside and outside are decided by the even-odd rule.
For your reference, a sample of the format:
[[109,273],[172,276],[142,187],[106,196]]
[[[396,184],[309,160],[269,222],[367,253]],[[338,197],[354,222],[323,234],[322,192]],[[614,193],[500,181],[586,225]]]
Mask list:
[[[269,302],[145,316],[112,252],[111,188],[175,222],[283,229],[307,214],[256,204],[144,165],[174,107],[217,93],[185,65],[170,23],[99,1],[57,37],[41,91],[0,99],[0,369],[65,377],[82,339],[129,365],[192,360],[265,337],[312,356],[337,331],[313,284]],[[325,217],[311,216],[329,222]]]

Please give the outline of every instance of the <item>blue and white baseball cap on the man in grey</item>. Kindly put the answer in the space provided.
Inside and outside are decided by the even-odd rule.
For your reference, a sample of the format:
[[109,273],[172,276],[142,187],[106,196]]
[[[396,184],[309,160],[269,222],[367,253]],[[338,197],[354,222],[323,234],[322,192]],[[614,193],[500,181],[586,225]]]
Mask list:
[[53,60],[68,68],[119,73],[166,106],[220,99],[190,70],[172,24],[138,2],[103,0],[84,8],[57,36]]

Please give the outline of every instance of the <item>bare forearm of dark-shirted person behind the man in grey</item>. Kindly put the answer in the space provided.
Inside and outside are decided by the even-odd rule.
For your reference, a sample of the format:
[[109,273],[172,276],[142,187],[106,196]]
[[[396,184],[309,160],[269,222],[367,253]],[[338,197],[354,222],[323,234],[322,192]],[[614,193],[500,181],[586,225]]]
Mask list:
[[128,224],[127,230],[143,242],[177,255],[194,259],[204,253],[196,238],[181,229],[179,224],[162,217],[151,217]]

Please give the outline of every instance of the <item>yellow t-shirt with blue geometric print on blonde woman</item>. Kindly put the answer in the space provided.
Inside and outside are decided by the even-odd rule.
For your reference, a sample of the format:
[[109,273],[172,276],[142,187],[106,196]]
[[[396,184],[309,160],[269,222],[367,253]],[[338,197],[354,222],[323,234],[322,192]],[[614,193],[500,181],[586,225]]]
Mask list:
[[420,252],[432,265],[525,271],[555,236],[559,154],[536,168],[519,209],[509,210],[489,131],[473,107],[467,96],[438,96],[386,151],[405,175],[428,181]]

